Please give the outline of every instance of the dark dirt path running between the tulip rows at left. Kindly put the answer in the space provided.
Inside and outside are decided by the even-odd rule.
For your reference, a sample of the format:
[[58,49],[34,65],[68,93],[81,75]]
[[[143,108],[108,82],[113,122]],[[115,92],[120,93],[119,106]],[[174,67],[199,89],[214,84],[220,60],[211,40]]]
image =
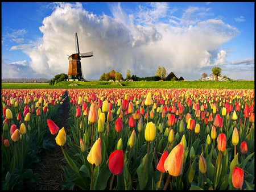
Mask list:
[[[65,95],[68,97],[67,91]],[[58,118],[60,118],[60,123],[57,124],[59,128],[64,127],[65,130],[68,129],[69,102],[67,98],[60,107]],[[38,155],[42,160],[31,166],[33,173],[39,173],[42,176],[39,185],[30,183],[24,185],[23,190],[65,190],[61,186],[61,182],[65,180],[65,176],[63,170],[60,168],[60,165],[65,165],[62,161],[64,158],[63,152],[60,146],[56,144],[55,136],[52,137],[52,143],[56,145],[55,150],[43,150]]]

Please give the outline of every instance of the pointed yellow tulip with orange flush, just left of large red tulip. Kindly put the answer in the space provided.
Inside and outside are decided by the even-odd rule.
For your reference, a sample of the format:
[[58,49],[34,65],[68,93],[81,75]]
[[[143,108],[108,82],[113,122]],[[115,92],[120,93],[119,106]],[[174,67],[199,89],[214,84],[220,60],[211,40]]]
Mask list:
[[101,164],[101,138],[98,138],[93,144],[87,156],[87,160],[92,165],[95,164],[98,166]]

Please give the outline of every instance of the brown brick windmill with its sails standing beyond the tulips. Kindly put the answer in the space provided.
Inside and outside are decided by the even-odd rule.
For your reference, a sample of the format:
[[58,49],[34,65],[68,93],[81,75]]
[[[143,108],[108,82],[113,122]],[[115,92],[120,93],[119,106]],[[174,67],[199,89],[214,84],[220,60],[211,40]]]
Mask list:
[[68,56],[68,81],[84,81],[82,77],[81,58],[93,57],[93,52],[80,53],[77,33],[75,33],[76,53]]

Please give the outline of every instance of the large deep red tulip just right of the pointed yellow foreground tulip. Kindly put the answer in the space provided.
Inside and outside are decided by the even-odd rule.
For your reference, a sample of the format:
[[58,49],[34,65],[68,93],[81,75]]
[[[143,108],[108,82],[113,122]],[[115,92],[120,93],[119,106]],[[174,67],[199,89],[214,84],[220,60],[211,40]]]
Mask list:
[[125,162],[125,158],[123,156],[123,150],[115,150],[109,156],[109,170],[113,174],[122,174],[123,173],[123,165]]

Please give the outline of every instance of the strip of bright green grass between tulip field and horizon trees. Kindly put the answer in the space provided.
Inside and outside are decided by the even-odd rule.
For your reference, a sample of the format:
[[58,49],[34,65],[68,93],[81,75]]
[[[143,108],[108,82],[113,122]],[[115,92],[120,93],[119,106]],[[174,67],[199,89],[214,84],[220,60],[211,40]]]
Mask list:
[[[77,84],[78,86],[68,86]],[[62,81],[49,84],[2,84],[2,89],[86,89],[86,88],[201,88],[201,89],[254,89],[254,81],[123,81],[121,83],[89,81]]]

